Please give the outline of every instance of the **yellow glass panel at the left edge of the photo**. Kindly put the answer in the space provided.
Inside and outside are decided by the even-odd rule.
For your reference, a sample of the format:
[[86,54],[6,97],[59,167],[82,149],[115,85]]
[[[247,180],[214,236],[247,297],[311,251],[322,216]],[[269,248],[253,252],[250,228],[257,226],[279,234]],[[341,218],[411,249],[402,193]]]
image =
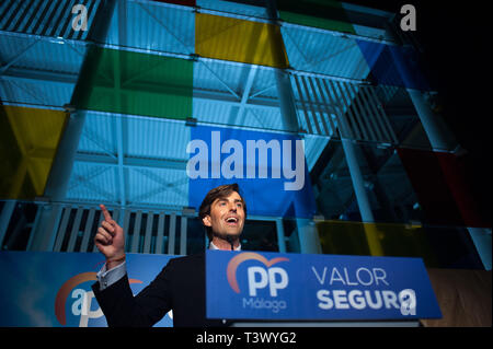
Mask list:
[[0,198],[43,195],[65,121],[59,110],[0,106]]

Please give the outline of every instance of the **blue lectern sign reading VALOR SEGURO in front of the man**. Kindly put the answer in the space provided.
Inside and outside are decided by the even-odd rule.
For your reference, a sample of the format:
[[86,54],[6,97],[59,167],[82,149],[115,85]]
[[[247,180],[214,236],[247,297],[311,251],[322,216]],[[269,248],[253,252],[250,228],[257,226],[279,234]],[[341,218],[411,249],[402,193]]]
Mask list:
[[207,251],[207,317],[439,318],[420,258]]

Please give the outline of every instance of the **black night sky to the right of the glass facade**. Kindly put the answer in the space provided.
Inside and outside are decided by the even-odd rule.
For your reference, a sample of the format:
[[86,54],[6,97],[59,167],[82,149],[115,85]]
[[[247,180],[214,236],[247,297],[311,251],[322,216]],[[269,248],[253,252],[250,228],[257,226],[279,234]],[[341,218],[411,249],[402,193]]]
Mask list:
[[416,8],[416,34],[435,78],[443,117],[468,151],[470,184],[491,214],[491,1],[345,1],[398,14],[405,3]]

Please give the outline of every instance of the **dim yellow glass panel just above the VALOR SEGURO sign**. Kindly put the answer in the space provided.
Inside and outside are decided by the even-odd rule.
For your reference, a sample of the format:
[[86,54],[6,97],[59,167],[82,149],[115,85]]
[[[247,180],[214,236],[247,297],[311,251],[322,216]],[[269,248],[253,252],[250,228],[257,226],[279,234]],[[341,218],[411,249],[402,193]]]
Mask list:
[[428,267],[438,263],[421,225],[319,221],[317,230],[324,254],[419,257]]

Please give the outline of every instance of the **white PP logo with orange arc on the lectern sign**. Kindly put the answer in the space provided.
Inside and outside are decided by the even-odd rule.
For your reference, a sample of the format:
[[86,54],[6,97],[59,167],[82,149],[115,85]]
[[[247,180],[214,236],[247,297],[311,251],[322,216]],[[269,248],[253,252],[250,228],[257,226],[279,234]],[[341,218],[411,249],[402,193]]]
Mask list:
[[280,267],[272,267],[279,261],[289,261],[286,257],[277,257],[267,260],[264,256],[252,252],[245,252],[233,257],[227,267],[227,278],[231,289],[240,293],[240,288],[237,281],[237,269],[239,265],[245,260],[259,260],[266,268],[253,266],[246,268],[249,295],[256,296],[257,290],[268,287],[271,296],[277,296],[278,290],[285,289],[289,283],[289,277],[285,269]]

